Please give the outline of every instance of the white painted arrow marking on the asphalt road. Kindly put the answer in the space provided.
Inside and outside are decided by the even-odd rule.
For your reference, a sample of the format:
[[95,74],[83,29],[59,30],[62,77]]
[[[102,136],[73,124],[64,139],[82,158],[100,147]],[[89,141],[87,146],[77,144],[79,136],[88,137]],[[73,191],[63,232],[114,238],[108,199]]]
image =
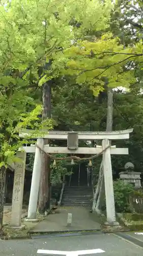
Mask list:
[[92,254],[92,253],[102,253],[105,252],[101,249],[92,249],[92,250],[81,250],[81,251],[54,251],[54,250],[38,250],[37,253],[44,254],[60,254],[67,256],[78,256],[84,254]]

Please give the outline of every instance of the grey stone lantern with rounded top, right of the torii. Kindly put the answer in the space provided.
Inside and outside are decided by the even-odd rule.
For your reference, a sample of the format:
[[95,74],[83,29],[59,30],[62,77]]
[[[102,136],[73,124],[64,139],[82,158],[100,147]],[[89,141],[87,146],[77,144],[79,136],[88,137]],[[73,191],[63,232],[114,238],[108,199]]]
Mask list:
[[141,188],[141,173],[134,172],[134,165],[131,162],[125,164],[125,172],[119,173],[120,179],[124,181],[124,183],[131,183],[134,185],[136,189]]

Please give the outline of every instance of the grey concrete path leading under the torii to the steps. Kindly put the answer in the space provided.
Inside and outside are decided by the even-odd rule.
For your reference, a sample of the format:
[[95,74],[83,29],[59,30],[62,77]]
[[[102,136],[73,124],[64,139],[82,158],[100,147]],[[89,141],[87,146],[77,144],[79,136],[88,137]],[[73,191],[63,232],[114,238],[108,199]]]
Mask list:
[[[72,214],[71,227],[67,227],[68,213]],[[100,230],[99,218],[85,207],[60,207],[55,214],[48,215],[44,221],[30,230],[31,233],[61,232],[77,230]]]

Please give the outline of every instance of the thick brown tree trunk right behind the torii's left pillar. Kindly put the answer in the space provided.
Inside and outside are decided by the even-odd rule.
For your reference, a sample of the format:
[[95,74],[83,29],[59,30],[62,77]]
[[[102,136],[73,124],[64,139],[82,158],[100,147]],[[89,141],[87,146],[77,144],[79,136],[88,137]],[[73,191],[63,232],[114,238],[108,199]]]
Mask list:
[[[43,113],[42,120],[51,117],[51,81],[43,84]],[[49,144],[48,139],[44,139],[44,144]],[[50,158],[42,153],[42,172],[39,189],[38,211],[44,214],[50,207]]]

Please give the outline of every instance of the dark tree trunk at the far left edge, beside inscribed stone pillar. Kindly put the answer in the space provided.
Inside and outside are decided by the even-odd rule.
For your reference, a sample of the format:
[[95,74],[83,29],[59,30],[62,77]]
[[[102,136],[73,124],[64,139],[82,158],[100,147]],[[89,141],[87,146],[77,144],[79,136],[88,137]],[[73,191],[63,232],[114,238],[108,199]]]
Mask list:
[[0,234],[2,233],[2,226],[3,226],[5,190],[6,190],[6,167],[2,166],[2,168],[0,169]]

